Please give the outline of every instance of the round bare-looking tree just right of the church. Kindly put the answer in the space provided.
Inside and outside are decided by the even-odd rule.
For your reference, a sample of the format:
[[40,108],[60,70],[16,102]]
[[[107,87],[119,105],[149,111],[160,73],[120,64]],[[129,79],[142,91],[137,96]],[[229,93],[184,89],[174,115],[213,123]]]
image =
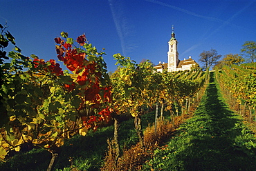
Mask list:
[[201,54],[199,54],[199,61],[203,63],[203,68],[211,68],[212,65],[217,63],[218,59],[221,58],[221,54],[217,53],[217,50],[211,49],[208,51],[203,50]]

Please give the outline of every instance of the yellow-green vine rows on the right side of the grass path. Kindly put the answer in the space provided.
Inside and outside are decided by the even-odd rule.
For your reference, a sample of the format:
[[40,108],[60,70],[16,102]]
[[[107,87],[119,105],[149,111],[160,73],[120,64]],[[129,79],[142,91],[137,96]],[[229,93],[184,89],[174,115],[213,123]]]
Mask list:
[[230,105],[249,123],[256,121],[256,64],[244,63],[241,66],[224,66],[217,71],[217,79]]

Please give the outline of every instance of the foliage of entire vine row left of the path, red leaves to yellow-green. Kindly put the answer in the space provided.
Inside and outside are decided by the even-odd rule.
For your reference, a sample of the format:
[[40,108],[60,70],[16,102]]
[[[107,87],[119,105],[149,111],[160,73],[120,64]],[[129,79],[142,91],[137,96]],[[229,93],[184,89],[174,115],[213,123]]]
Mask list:
[[[15,43],[10,32],[1,40],[1,48],[8,46],[6,41]],[[11,152],[35,147],[53,154],[64,144],[64,139],[78,133],[84,136],[89,129],[95,131],[108,122],[111,116],[125,112],[135,118],[143,149],[143,109],[160,101],[162,106],[165,103],[166,110],[175,110],[179,115],[180,108],[189,108],[188,101],[196,96],[208,77],[208,72],[200,68],[178,74],[158,73],[149,61],[136,64],[115,54],[119,66],[110,80],[102,57],[104,52],[98,52],[84,34],[72,39],[62,32],[54,40],[57,58],[69,71],[63,71],[54,59],[25,57],[16,46],[8,54],[10,62],[1,65],[1,106],[7,119],[1,128],[1,159],[10,157]]]

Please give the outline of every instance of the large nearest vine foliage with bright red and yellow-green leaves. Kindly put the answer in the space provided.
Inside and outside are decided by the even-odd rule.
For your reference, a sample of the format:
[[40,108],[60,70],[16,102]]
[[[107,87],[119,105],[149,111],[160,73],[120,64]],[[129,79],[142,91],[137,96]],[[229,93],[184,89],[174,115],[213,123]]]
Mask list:
[[[73,74],[53,59],[24,57],[17,47],[8,54],[10,62],[1,63],[1,114],[9,118],[1,128],[1,159],[8,152],[35,146],[56,151],[64,139],[78,132],[85,135],[110,119],[111,87],[104,52],[86,43],[84,35],[77,37],[78,46],[67,33],[62,35],[55,39],[57,57]],[[10,32],[3,38],[1,34],[1,48],[8,46],[4,42],[15,43]]]

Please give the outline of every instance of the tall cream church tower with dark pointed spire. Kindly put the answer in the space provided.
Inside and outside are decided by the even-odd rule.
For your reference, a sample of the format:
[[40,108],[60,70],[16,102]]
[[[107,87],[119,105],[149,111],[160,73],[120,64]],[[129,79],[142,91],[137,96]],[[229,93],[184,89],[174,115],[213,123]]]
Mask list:
[[179,62],[179,53],[178,53],[178,41],[175,38],[174,34],[174,26],[172,25],[172,37],[170,41],[168,42],[169,44],[169,51],[167,52],[168,55],[168,71],[176,71],[178,62]]

